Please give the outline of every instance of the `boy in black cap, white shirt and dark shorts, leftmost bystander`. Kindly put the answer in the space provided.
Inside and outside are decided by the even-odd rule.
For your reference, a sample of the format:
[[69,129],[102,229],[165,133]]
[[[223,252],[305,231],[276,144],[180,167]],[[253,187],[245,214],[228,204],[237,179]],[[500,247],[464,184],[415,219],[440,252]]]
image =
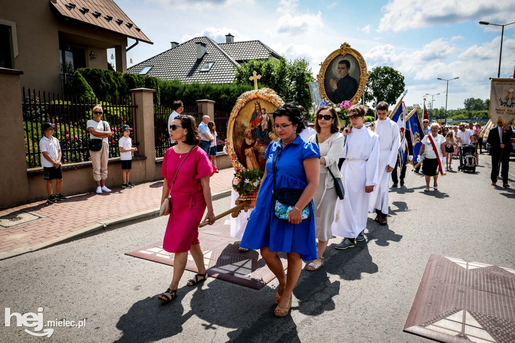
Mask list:
[[[61,194],[63,185],[63,175],[61,170],[61,145],[54,134],[54,126],[50,123],[44,123],[41,126],[43,137],[39,141],[39,149],[41,151],[41,165],[44,171],[44,179],[46,180],[46,191],[48,192],[48,203],[56,203],[57,200],[66,200]],[[53,193],[53,180],[56,180],[56,195]]]

